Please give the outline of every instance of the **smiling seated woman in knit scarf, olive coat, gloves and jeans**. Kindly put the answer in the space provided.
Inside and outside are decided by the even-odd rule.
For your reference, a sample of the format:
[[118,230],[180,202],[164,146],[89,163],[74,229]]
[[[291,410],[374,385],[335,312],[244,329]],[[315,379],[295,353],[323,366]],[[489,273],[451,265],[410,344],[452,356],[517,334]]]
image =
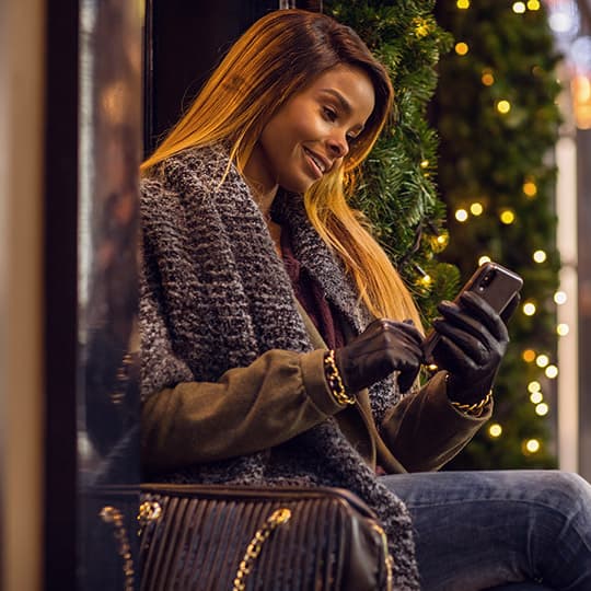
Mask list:
[[348,488],[389,533],[396,589],[591,589],[582,479],[432,472],[490,416],[509,337],[477,296],[443,302],[441,371],[416,385],[419,315],[347,205],[392,96],[350,28],[277,11],[143,163],[146,471]]

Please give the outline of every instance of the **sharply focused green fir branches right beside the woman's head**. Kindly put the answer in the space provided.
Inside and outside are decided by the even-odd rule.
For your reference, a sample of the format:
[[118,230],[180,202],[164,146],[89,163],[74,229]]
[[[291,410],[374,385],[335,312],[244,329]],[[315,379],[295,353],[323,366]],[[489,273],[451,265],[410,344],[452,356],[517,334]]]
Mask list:
[[[438,139],[426,112],[437,85],[436,65],[451,47],[433,1],[328,0],[325,12],[351,26],[386,66],[395,89],[392,125],[364,163],[355,206],[417,298],[427,324],[442,298],[457,289],[459,271],[433,256],[445,207],[434,184]],[[428,275],[431,281],[425,281]]]

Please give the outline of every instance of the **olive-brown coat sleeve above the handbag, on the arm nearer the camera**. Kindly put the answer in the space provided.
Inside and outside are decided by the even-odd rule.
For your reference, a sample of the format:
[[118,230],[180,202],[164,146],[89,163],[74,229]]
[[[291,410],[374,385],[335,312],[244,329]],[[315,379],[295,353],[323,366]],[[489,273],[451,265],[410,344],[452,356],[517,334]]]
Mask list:
[[282,443],[343,409],[328,389],[323,350],[270,350],[219,382],[179,383],[141,413],[148,472],[244,455]]

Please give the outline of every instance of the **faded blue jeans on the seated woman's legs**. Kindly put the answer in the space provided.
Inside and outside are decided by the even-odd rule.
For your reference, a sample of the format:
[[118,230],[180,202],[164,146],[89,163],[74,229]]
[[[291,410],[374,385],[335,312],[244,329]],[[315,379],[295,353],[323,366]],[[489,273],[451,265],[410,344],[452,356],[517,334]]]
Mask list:
[[436,472],[380,482],[410,511],[424,591],[591,591],[591,486],[580,476]]

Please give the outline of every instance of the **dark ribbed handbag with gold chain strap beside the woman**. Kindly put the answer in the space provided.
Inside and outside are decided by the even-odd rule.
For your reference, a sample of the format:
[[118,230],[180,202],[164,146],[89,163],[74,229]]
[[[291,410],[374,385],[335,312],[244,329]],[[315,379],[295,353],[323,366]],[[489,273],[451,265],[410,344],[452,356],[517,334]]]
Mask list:
[[141,591],[375,591],[392,558],[340,488],[141,485]]

